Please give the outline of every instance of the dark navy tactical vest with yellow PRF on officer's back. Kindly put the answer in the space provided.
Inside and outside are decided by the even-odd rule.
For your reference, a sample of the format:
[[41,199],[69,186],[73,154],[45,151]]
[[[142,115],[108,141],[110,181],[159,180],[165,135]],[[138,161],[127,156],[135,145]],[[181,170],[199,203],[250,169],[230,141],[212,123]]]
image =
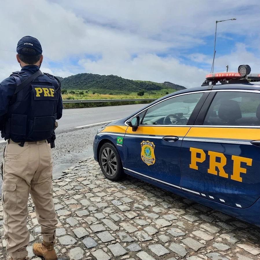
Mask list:
[[[13,72],[16,85],[30,74]],[[16,93],[10,102],[3,123],[2,138],[14,142],[40,141],[54,134],[60,86],[54,76],[42,74]]]

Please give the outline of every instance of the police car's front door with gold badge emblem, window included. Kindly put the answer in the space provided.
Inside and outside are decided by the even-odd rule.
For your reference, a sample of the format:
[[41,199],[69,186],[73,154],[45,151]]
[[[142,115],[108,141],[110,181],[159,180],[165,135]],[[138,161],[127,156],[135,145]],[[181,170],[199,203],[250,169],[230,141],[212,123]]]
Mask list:
[[141,112],[140,126],[128,127],[123,140],[125,170],[179,188],[182,139],[190,129],[188,120],[199,111],[194,108],[201,108],[206,99],[202,95],[202,91],[176,95]]

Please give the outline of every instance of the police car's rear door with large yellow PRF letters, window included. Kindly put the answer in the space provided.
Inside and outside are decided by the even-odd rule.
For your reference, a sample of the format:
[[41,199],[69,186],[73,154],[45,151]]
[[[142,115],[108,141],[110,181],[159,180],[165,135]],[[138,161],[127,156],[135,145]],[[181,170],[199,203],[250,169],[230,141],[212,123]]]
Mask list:
[[211,91],[182,141],[180,186],[247,208],[260,197],[260,93]]

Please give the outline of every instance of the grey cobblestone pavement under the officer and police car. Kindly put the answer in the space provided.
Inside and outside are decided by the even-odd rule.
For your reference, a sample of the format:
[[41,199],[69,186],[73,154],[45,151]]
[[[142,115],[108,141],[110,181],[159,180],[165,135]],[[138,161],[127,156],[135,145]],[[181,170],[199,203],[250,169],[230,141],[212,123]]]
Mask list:
[[[104,178],[88,158],[54,180],[58,259],[260,259],[259,228],[130,176]],[[41,241],[31,198],[32,245]],[[0,205],[0,259],[6,258]]]

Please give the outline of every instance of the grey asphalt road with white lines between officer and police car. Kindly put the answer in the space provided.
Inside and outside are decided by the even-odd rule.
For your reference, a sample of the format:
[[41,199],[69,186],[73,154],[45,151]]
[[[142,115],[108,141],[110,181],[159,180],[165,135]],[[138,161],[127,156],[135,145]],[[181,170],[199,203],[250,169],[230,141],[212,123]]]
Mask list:
[[[64,109],[62,118],[58,120],[59,126],[55,131],[55,148],[52,149],[54,165],[53,178],[58,178],[62,174],[63,170],[78,163],[80,159],[93,155],[93,139],[97,129],[102,125],[94,125],[88,128],[78,128],[79,126],[99,124],[106,121],[124,118],[143,106],[145,105],[138,104],[98,108]],[[0,143],[0,162],[3,158],[4,146],[5,142]],[[1,178],[0,185],[2,185]]]

